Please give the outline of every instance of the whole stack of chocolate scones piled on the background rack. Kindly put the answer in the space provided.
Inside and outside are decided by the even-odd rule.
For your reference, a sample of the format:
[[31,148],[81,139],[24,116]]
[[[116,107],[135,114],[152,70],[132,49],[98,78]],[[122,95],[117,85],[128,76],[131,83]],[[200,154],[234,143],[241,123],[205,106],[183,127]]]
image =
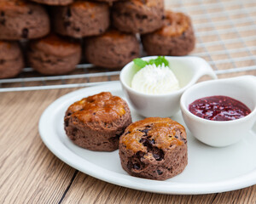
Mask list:
[[81,55],[122,68],[140,56],[139,38],[148,55],[186,55],[195,47],[189,17],[165,11],[164,0],[0,0],[0,78],[17,76],[26,64],[44,75],[66,74]]

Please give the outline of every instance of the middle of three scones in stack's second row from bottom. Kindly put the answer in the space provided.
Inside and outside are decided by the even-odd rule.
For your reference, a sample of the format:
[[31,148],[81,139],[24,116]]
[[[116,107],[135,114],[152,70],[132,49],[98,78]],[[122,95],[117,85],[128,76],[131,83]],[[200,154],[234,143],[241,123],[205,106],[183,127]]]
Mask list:
[[55,31],[64,36],[95,36],[109,26],[108,3],[76,1],[54,8],[52,14]]

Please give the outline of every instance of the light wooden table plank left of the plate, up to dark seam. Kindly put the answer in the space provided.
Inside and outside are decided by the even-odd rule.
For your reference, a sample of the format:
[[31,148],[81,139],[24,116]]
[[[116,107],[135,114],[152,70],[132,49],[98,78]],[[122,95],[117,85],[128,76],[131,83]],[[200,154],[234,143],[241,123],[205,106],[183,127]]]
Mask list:
[[0,94],[0,203],[55,203],[67,189],[75,170],[51,154],[38,134],[39,116],[60,95]]

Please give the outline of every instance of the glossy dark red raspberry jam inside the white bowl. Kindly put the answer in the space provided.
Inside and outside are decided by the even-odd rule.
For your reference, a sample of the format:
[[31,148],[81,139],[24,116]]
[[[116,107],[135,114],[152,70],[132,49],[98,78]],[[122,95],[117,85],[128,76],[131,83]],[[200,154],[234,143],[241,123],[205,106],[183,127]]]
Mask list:
[[246,105],[228,96],[197,99],[189,105],[189,111],[195,116],[211,121],[236,120],[251,112]]

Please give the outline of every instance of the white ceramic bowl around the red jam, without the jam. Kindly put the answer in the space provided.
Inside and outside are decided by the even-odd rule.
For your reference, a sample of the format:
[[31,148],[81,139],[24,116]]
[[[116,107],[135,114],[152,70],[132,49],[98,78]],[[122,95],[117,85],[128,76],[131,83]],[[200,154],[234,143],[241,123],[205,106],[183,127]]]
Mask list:
[[[195,116],[189,104],[203,97],[224,95],[241,101],[252,111],[233,121],[210,121]],[[256,77],[243,76],[200,82],[188,88],[181,100],[183,119],[196,139],[211,146],[227,146],[242,139],[256,122]]]

